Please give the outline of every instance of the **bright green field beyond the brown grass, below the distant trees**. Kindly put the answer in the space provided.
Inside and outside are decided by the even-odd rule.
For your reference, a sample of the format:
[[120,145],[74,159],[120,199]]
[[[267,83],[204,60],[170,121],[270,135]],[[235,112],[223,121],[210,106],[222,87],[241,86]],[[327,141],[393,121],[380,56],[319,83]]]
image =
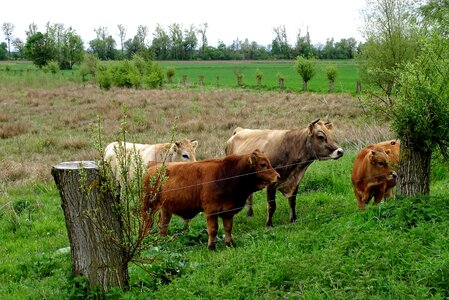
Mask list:
[[[199,77],[204,76],[204,86],[206,88],[243,88],[262,91],[278,91],[278,75],[284,77],[284,90],[292,92],[302,91],[302,81],[294,69],[295,61],[211,61],[211,62],[179,62],[161,61],[159,62],[164,70],[174,68],[175,75],[173,83],[165,82],[164,88],[184,88],[183,76],[187,76],[188,87],[197,88]],[[356,92],[356,83],[359,80],[357,65],[354,60],[319,60],[316,65],[316,75],[308,84],[311,92],[326,93],[329,90],[329,83],[326,79],[326,66],[333,64],[337,66],[338,75],[334,84],[334,92],[351,93]],[[256,70],[263,73],[261,85],[257,86]],[[243,74],[242,86],[237,85],[235,73]],[[44,86],[61,84],[66,80],[81,83],[81,77],[75,66],[73,70],[60,71],[59,74],[43,73],[31,63],[1,63],[0,79],[10,80],[11,76],[16,77],[28,85],[40,86],[39,80]],[[167,81],[167,79],[166,79]]]

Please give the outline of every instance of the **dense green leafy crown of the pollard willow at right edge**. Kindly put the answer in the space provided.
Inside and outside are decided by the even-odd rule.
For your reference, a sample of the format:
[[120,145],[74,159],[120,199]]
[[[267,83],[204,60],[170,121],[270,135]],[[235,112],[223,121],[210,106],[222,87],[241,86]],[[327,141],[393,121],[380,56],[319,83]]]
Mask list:
[[393,128],[420,148],[449,145],[449,42],[437,33],[422,41],[420,54],[398,74]]

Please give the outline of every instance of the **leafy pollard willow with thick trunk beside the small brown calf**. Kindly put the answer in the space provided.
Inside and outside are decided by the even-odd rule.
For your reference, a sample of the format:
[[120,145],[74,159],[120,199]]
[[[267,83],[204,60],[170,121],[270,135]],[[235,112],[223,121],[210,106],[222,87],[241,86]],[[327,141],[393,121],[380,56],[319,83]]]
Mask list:
[[397,193],[430,192],[432,154],[449,159],[449,39],[434,31],[421,38],[420,54],[398,72],[392,111],[401,139]]

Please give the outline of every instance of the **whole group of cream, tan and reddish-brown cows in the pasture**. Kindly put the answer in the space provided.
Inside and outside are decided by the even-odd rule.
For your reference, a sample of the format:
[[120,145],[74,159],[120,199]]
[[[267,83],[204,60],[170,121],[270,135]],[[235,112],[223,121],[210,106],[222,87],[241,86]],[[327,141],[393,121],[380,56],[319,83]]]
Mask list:
[[[225,143],[226,156],[196,161],[196,140],[184,139],[166,144],[109,144],[105,161],[113,175],[122,171],[119,157],[134,155],[126,176],[133,176],[141,164],[143,207],[159,211],[158,227],[167,235],[173,214],[186,224],[204,212],[207,221],[208,248],[215,249],[218,217],[222,219],[225,244],[232,245],[233,217],[248,206],[251,216],[252,194],[267,188],[267,226],[273,226],[276,191],[288,198],[290,221],[296,220],[296,195],[307,168],[315,160],[338,159],[343,149],[332,135],[332,123],[319,119],[306,128],[291,130],[244,129],[237,127]],[[375,203],[392,195],[396,185],[399,141],[387,141],[362,149],[354,161],[352,183],[359,209],[374,197]],[[157,196],[148,197],[151,183],[161,170],[165,181]],[[140,175],[139,175],[140,176]],[[146,212],[142,212],[145,214]]]

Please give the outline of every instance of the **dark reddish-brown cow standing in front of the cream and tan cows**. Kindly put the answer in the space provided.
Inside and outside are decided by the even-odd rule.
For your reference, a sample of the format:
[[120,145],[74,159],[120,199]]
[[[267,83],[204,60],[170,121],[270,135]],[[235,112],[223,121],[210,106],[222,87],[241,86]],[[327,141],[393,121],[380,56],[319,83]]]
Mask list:
[[[149,183],[157,174],[157,168],[157,165],[149,166],[144,176],[143,207],[158,208],[147,203],[152,192]],[[172,214],[188,221],[204,211],[209,235],[208,247],[211,250],[215,249],[218,217],[223,221],[225,243],[231,245],[234,215],[243,209],[251,193],[276,182],[279,177],[268,158],[259,150],[246,155],[168,163],[165,174],[168,179],[156,199],[153,199],[160,207],[160,234],[167,235]]]

